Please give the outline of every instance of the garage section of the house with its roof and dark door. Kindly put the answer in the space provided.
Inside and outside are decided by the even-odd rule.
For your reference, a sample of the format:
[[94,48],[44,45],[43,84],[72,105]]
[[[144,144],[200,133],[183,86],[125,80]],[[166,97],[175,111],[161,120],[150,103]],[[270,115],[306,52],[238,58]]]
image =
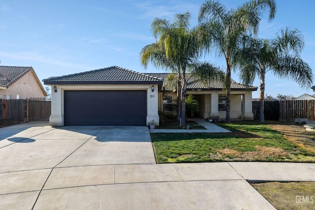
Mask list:
[[50,77],[52,126],[159,125],[161,78],[111,66]]

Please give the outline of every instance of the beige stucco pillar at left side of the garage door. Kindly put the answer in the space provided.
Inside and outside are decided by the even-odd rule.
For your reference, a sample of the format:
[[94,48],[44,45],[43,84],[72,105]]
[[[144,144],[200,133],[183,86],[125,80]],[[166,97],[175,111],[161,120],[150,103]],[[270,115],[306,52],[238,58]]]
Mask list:
[[49,117],[49,125],[63,126],[63,90],[57,87],[57,92],[51,86],[51,116]]

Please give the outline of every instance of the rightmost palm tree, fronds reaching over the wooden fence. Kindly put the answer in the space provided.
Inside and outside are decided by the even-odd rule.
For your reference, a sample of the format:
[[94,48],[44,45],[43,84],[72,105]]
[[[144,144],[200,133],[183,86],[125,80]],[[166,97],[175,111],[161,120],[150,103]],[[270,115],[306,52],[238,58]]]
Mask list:
[[[260,122],[264,122],[265,75],[272,71],[279,78],[291,79],[301,88],[311,88],[313,73],[311,67],[304,62],[300,53],[304,48],[303,35],[297,29],[282,29],[274,39],[256,39],[244,37],[243,46],[238,50],[240,78],[251,85],[255,77],[259,77]],[[282,96],[282,95],[279,95]],[[282,96],[283,98],[283,96]]]

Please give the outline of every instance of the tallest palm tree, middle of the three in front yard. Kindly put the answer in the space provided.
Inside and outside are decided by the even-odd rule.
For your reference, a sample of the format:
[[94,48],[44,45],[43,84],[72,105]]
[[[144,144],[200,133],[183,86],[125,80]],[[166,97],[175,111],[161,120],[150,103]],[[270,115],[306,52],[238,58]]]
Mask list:
[[198,19],[199,29],[203,31],[200,34],[205,34],[204,50],[210,52],[214,48],[226,62],[226,122],[230,122],[231,69],[236,49],[244,34],[248,31],[257,33],[262,13],[268,8],[271,21],[276,12],[274,0],[251,0],[236,10],[228,10],[219,1],[207,0],[200,8]]

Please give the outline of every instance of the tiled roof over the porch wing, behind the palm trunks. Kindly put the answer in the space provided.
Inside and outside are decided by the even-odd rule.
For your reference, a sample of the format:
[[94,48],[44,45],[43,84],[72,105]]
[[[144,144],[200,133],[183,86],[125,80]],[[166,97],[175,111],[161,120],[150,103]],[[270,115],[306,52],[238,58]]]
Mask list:
[[[162,89],[173,91],[176,87],[170,83],[167,83],[167,77],[172,75],[172,73],[149,73],[149,75],[162,78],[165,82]],[[176,75],[175,75],[176,76]],[[187,90],[222,90],[224,88],[224,83],[221,81],[211,81],[209,84],[203,84],[196,76],[192,74],[186,74],[187,76]],[[241,83],[237,83],[234,80],[231,82],[231,90],[257,90],[257,87],[250,86],[246,87]]]

